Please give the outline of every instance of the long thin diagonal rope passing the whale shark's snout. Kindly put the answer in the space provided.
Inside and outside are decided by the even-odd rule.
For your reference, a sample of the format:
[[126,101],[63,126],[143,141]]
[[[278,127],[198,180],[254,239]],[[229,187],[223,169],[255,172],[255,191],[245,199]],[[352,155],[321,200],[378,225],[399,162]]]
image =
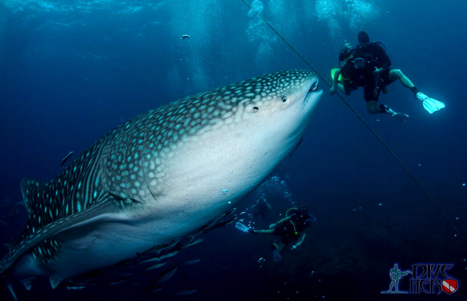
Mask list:
[[[248,6],[250,9],[251,9],[251,5],[248,4],[245,0],[242,0],[243,3],[246,4],[246,6]],[[259,15],[262,19],[262,21],[267,25],[269,26],[269,28],[272,29],[272,31],[274,31],[287,45],[289,45],[290,48],[292,48],[292,50],[295,51],[295,53],[300,57],[302,58],[302,60],[304,60],[304,62],[310,66],[310,68],[329,86],[331,87],[331,84],[326,80],[326,78],[324,78],[316,69],[314,69],[313,66],[311,66],[310,62],[297,50],[297,48],[294,47],[294,45],[290,44],[289,41],[287,41],[267,20],[265,20],[263,18],[262,15]],[[392,151],[389,146],[383,141],[383,139],[372,129],[372,127],[363,119],[362,116],[360,116],[360,114],[357,113],[357,111],[355,111],[355,109],[350,105],[350,103],[344,99],[344,97],[342,97],[342,95],[340,95],[339,93],[337,93],[336,91],[336,95],[339,96],[339,98],[349,107],[349,109],[358,117],[358,119],[360,119],[361,122],[363,122],[363,124],[370,130],[370,132],[375,135],[375,137],[381,142],[381,144],[383,144],[383,146],[390,152],[390,154],[394,157],[394,159],[400,164],[400,166],[402,166],[402,168],[407,172],[407,174],[413,179],[413,181],[418,185],[418,187],[420,187],[420,189],[425,193],[425,195],[430,199],[430,201],[435,205],[435,207],[439,210],[439,212],[441,212],[441,214],[444,216],[444,218],[446,219],[446,221],[448,221],[448,223],[453,227],[453,229],[457,232],[457,234],[459,234],[459,236],[461,236],[462,240],[464,240],[464,243],[467,245],[467,240],[466,238],[464,237],[464,235],[462,235],[461,231],[458,230],[458,228],[453,224],[453,222],[451,222],[451,220],[448,218],[448,216],[444,213],[444,211],[439,207],[439,205],[436,203],[435,199],[433,199],[433,197],[428,193],[428,191],[426,191],[426,189],[422,186],[422,184],[415,178],[415,176],[412,174],[412,172],[410,172],[410,170],[407,168],[407,166],[405,166],[404,163],[402,163],[402,161],[397,157],[397,155],[394,153],[394,151]]]

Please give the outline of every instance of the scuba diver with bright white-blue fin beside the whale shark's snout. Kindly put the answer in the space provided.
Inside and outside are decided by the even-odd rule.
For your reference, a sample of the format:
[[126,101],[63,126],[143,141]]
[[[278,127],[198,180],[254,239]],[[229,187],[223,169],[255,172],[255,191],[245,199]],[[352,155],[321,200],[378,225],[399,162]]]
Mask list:
[[386,94],[388,92],[386,86],[399,80],[404,87],[413,92],[415,99],[423,102],[423,107],[430,114],[445,107],[443,102],[418,91],[412,81],[400,70],[389,68],[391,61],[383,43],[370,42],[370,37],[365,31],[358,33],[358,42],[356,48],[352,48],[349,43],[344,44],[339,54],[341,68],[331,71],[333,85],[329,94],[334,95],[339,88],[348,96],[359,86],[364,87],[364,97],[370,114],[390,114],[395,119],[406,120],[408,115],[396,113],[384,104],[377,105],[380,92]]

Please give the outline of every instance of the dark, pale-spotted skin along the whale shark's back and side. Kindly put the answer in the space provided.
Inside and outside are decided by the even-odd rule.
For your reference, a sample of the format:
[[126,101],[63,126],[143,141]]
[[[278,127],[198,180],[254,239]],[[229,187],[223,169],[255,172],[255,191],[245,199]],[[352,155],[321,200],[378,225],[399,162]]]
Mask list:
[[[50,182],[23,179],[29,220],[19,243],[2,259],[0,272],[28,250],[40,263],[53,261],[59,256],[60,242],[52,235],[60,232],[61,224],[82,218],[99,203],[125,209],[157,202],[158,183],[180,145],[277,101],[310,76],[314,75],[306,70],[282,71],[179,99],[112,130]],[[46,231],[46,239],[40,240],[38,236]]]

